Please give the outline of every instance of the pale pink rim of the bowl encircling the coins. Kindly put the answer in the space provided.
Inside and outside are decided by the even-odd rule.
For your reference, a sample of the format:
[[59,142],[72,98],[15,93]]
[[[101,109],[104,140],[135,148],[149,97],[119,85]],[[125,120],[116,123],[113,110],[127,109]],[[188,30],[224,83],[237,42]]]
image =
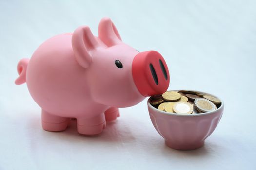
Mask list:
[[[180,90],[167,90],[167,91],[180,91]],[[218,98],[220,101],[221,101],[221,106],[219,108],[217,108],[216,110],[214,111],[211,111],[211,112],[205,112],[205,113],[198,113],[198,114],[177,114],[177,113],[169,113],[169,112],[165,112],[165,111],[161,111],[161,110],[158,110],[157,108],[153,107],[149,101],[150,99],[152,98],[152,96],[150,98],[148,98],[148,101],[147,101],[147,105],[148,107],[150,107],[152,110],[158,112],[158,113],[161,113],[161,114],[165,114],[165,115],[173,115],[173,116],[185,116],[185,117],[193,117],[193,116],[205,116],[205,115],[210,115],[210,114],[213,114],[213,113],[216,113],[217,111],[221,110],[224,108],[224,102],[221,98],[219,98],[218,96],[216,95],[212,95],[210,93],[205,93],[205,92],[202,92],[202,91],[197,91],[197,90],[184,90],[184,91],[194,91],[194,92],[197,92],[197,93],[201,93],[201,94],[205,94],[205,95],[210,95],[210,96],[213,96],[213,97],[216,97]]]

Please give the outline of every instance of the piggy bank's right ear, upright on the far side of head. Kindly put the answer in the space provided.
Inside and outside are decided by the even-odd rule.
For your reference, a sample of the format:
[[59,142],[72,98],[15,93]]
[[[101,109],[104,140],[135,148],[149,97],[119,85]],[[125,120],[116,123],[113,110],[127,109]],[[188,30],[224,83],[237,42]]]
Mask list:
[[122,42],[116,26],[108,17],[102,18],[99,22],[98,37],[109,47]]

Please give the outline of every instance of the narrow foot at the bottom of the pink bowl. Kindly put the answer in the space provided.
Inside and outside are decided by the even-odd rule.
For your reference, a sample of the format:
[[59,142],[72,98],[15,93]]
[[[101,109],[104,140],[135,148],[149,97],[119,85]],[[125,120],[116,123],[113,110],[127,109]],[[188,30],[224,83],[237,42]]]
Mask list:
[[165,144],[168,147],[176,150],[194,150],[202,147],[204,145],[204,141],[193,143],[193,144],[174,144],[170,141],[165,140]]

